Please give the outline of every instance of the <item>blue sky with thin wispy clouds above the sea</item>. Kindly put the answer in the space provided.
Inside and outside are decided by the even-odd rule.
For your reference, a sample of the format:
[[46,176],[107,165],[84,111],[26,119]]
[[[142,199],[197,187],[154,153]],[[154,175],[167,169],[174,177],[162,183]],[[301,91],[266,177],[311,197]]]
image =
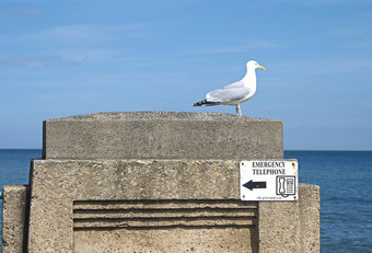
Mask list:
[[40,148],[44,119],[193,107],[244,76],[243,115],[284,149],[372,150],[372,2],[0,0],[0,148]]

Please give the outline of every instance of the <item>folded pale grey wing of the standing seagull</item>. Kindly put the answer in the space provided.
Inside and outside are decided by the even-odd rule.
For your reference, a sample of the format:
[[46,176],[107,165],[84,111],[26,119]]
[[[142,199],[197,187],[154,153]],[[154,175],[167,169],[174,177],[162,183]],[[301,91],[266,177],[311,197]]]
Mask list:
[[237,87],[237,88],[223,88],[219,90],[214,90],[209,92],[206,97],[209,102],[233,102],[244,99],[247,94],[249,94],[251,89],[246,87]]

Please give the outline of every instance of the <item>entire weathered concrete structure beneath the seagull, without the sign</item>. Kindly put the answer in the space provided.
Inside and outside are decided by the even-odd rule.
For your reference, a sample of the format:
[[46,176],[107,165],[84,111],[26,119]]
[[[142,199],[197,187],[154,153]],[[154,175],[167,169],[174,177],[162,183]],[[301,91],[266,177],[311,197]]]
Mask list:
[[44,158],[32,162],[30,206],[4,202],[30,208],[30,221],[4,217],[28,252],[319,251],[317,186],[301,184],[298,202],[240,200],[240,161],[282,159],[281,122],[149,112],[51,119]]

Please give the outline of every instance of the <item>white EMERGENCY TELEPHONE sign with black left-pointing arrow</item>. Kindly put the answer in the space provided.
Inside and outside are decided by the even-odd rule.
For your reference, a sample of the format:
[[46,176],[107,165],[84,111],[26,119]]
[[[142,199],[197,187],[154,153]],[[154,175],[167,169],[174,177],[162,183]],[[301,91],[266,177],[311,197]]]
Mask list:
[[299,199],[298,161],[242,161],[241,199],[255,202]]

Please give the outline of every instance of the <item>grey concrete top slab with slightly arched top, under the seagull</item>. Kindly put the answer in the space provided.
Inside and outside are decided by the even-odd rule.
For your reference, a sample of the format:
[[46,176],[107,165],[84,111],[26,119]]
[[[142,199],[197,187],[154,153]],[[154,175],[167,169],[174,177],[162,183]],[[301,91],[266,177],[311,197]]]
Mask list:
[[45,159],[278,159],[282,123],[222,113],[98,113],[44,122]]

